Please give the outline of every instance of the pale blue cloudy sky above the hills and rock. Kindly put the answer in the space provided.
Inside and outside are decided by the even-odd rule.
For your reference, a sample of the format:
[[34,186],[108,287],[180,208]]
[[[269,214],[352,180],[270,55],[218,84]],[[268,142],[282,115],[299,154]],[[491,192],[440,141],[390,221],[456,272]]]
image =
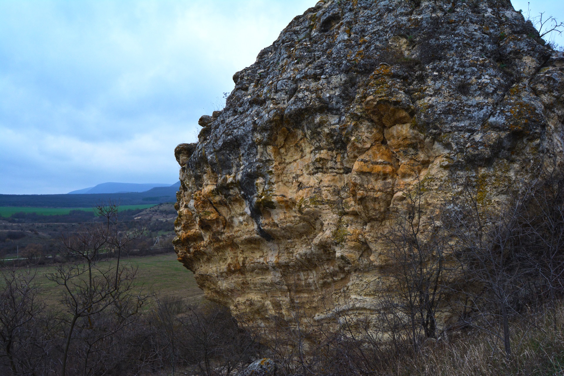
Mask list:
[[[0,193],[176,182],[174,147],[315,3],[0,0]],[[562,3],[531,16],[564,20]]]

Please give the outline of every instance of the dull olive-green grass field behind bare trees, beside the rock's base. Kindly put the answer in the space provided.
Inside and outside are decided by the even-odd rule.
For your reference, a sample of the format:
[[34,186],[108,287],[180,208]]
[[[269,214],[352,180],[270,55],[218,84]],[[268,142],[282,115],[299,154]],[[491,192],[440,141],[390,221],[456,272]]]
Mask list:
[[[122,262],[139,268],[136,285],[145,291],[172,295],[190,303],[200,302],[204,297],[204,292],[196,284],[193,273],[177,261],[176,254],[135,257],[122,259]],[[116,261],[101,262],[99,266],[106,267],[104,265],[106,263],[114,264]],[[63,291],[60,286],[46,278],[47,273],[53,272],[55,268],[55,266],[37,268],[36,281],[42,287],[42,294],[48,304],[58,304]]]

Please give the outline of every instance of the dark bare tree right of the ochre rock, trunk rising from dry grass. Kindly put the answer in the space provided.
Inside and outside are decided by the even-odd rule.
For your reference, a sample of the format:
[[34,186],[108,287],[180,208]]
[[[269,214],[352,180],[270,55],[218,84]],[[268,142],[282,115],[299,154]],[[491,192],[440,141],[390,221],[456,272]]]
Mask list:
[[519,294],[530,274],[528,250],[522,242],[530,229],[523,226],[522,215],[531,185],[521,186],[521,191],[507,192],[506,202],[496,206],[480,198],[466,178],[461,194],[443,210],[465,282],[458,291],[466,298],[459,300],[460,311],[466,313],[462,320],[499,338],[508,359],[512,357],[510,319],[519,315]]

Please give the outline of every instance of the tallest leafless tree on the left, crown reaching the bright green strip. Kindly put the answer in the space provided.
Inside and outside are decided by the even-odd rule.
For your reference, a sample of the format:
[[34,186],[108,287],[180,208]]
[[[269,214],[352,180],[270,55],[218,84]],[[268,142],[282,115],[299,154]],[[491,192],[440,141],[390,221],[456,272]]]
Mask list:
[[[132,324],[147,295],[135,293],[135,268],[120,266],[120,254],[139,231],[120,231],[117,205],[95,209],[107,219],[91,224],[74,236],[63,239],[63,253],[73,262],[60,264],[47,278],[63,287],[65,344],[61,356],[61,376],[67,374],[69,356],[73,374],[107,373],[112,358],[114,335]],[[117,265],[102,266],[99,260],[107,247],[117,252]],[[111,315],[108,313],[111,312]],[[75,333],[77,332],[77,333]],[[74,344],[74,347],[71,345]],[[81,361],[78,362],[77,359]]]

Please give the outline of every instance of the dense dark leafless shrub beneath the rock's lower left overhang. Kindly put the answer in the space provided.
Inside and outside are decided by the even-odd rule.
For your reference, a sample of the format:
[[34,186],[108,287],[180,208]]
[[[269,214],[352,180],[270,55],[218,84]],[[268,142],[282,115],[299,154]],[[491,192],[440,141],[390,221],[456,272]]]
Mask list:
[[242,330],[228,309],[214,303],[186,304],[158,297],[131,333],[129,359],[138,373],[168,370],[230,375],[258,356],[256,335]]

